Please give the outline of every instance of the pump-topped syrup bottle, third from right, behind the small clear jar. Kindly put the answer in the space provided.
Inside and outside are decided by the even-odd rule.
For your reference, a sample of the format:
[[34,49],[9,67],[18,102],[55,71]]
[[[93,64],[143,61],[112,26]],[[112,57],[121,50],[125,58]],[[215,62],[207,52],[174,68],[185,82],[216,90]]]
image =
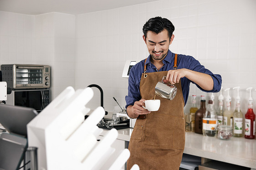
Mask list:
[[225,91],[228,91],[228,95],[226,98],[226,110],[223,112],[223,118],[224,118],[224,125],[232,126],[233,125],[233,112],[231,111],[231,97],[229,95],[230,88],[225,89]]

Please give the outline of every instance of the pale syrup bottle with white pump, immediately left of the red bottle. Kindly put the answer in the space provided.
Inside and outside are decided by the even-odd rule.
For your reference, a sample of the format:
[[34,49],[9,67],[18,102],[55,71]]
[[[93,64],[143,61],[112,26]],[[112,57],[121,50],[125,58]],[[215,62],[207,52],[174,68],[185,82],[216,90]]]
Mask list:
[[239,97],[239,88],[234,87],[233,89],[237,89],[237,97],[236,97],[236,109],[233,113],[233,136],[234,137],[242,137],[243,136],[243,113],[240,109],[240,97]]

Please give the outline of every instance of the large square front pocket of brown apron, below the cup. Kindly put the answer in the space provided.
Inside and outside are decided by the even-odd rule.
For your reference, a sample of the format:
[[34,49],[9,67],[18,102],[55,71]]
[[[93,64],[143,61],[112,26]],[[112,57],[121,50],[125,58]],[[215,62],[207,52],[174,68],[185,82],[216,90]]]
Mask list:
[[183,117],[165,114],[148,114],[144,144],[184,149],[185,125]]

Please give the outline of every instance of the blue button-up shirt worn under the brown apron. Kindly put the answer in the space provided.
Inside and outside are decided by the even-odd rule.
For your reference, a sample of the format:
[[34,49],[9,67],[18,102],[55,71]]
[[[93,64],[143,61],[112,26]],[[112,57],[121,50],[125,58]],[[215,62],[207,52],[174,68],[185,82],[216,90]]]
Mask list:
[[[151,61],[150,61],[151,57],[149,55],[148,59],[146,61],[146,64],[147,64],[146,73],[173,70],[174,69],[173,68],[174,67],[174,55],[175,54],[172,53],[170,50],[168,51],[166,57],[163,60],[164,66],[162,68],[160,68],[160,70],[157,70],[157,68],[154,66],[154,64],[151,63]],[[129,74],[129,80],[128,80],[128,96],[125,97],[126,108],[129,105],[133,105],[134,102],[139,101],[141,99],[139,86],[140,86],[141,75],[142,75],[142,73],[144,73],[143,72],[144,63],[145,63],[145,59],[143,59],[139,63],[135,64],[131,68],[131,71]],[[187,68],[189,70],[193,70],[196,72],[209,74],[212,77],[213,83],[214,83],[212,90],[205,91],[199,85],[190,81],[188,78],[185,78],[185,77],[181,78],[181,87],[182,87],[182,93],[183,93],[185,104],[187,103],[187,100],[189,97],[189,84],[190,83],[194,83],[198,88],[200,88],[200,90],[202,90],[204,92],[219,92],[220,91],[221,82],[222,82],[221,76],[219,74],[213,74],[212,72],[210,72],[210,70],[206,69],[203,65],[201,65],[199,63],[199,61],[197,61],[192,56],[178,54],[177,66],[178,66],[177,69]]]

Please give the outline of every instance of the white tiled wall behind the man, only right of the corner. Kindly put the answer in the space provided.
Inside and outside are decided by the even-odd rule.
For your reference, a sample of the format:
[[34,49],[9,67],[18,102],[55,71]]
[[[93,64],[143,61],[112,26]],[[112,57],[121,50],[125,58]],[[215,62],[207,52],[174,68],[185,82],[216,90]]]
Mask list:
[[[76,87],[98,83],[104,91],[106,110],[112,111],[117,105],[112,97],[125,106],[128,80],[121,75],[124,62],[148,56],[142,27],[150,17],[160,15],[170,19],[175,26],[170,49],[192,55],[206,68],[222,75],[224,89],[241,86],[241,107],[246,112],[249,93],[245,89],[256,88],[255,7],[254,0],[160,0],[77,15]],[[98,22],[104,26],[98,28]],[[210,94],[201,92],[194,84],[190,86],[190,96],[192,94],[198,95],[198,107],[201,94],[210,98]],[[252,94],[256,99],[256,92]],[[217,103],[219,93],[214,95]],[[224,90],[223,95],[226,96]],[[236,92],[230,90],[230,95],[235,107]],[[98,106],[99,94],[95,98],[90,103],[92,107]],[[190,102],[189,97],[186,112]]]

